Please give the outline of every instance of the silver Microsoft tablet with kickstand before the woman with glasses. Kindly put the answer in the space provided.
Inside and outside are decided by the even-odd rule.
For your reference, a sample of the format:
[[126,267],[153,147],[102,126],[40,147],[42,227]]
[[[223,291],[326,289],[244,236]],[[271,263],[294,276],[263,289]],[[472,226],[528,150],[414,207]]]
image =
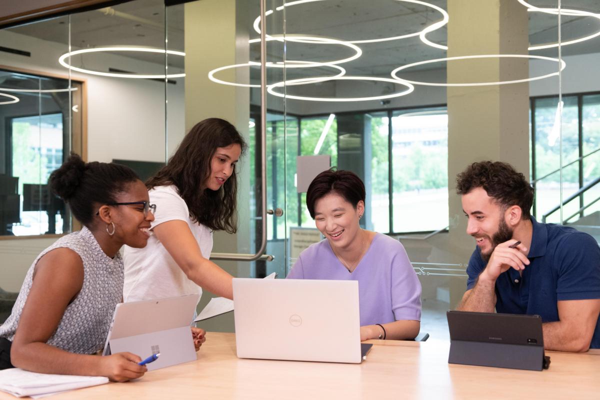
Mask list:
[[116,305],[103,355],[129,351],[146,359],[148,371],[196,360],[190,324],[199,295],[119,303]]

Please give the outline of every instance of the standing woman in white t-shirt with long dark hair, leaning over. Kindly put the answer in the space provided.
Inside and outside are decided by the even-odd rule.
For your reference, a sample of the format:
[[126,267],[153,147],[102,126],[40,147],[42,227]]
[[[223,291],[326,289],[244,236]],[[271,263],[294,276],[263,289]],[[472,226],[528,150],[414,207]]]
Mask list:
[[202,293],[233,298],[229,273],[210,261],[212,232],[236,232],[235,166],[246,143],[227,121],[196,124],[146,182],[158,212],[143,249],[125,248],[124,300]]

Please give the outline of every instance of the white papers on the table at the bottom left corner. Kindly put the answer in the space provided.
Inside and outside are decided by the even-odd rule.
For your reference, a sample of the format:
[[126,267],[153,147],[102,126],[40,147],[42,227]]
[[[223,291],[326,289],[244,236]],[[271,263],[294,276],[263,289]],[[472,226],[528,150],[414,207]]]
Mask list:
[[17,397],[38,398],[80,387],[101,385],[108,381],[109,378],[106,377],[38,374],[20,368],[0,371],[0,390]]

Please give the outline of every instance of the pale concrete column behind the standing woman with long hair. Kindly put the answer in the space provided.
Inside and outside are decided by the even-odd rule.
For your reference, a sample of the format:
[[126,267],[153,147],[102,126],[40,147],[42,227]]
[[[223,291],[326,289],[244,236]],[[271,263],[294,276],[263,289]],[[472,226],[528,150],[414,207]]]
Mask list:
[[[224,65],[248,62],[247,2],[203,0],[185,4],[185,128],[217,117],[231,122],[249,142],[250,92],[208,79],[208,72]],[[223,71],[220,79],[248,83],[248,68]],[[238,233],[214,234],[214,252],[254,252],[250,236],[250,163],[242,155],[238,163]],[[217,261],[233,276],[248,276],[250,263]],[[199,308],[208,302],[203,296]],[[233,331],[233,317],[226,314],[202,323],[207,330]]]

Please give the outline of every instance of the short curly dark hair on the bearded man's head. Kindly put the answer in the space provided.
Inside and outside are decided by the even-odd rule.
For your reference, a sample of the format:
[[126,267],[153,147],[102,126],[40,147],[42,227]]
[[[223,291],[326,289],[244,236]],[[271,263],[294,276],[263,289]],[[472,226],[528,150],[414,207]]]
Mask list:
[[480,161],[457,175],[457,194],[467,194],[475,188],[483,188],[488,196],[504,207],[521,207],[521,218],[531,219],[533,188],[511,164]]

